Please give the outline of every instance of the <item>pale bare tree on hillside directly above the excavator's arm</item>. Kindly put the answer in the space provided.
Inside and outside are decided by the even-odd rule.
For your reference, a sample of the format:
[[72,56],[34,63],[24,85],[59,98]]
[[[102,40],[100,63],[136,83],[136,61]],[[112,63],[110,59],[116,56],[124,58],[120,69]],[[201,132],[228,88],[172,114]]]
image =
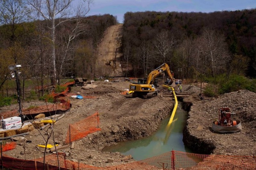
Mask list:
[[160,32],[157,35],[156,41],[153,43],[153,45],[156,48],[156,54],[159,55],[161,63],[166,62],[166,58],[175,44],[176,41],[173,39],[173,37],[169,38],[167,31]]

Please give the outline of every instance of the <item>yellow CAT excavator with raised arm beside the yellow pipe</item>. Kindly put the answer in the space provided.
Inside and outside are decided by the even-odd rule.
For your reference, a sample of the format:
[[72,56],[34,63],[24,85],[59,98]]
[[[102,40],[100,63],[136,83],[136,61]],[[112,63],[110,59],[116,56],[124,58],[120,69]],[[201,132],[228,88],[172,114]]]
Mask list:
[[156,96],[158,90],[156,89],[157,81],[156,77],[166,71],[168,76],[170,77],[168,84],[173,85],[174,77],[172,71],[168,64],[164,63],[161,66],[157,67],[151,73],[148,74],[148,78],[146,79],[138,79],[138,83],[132,83],[129,86],[129,90],[133,91],[132,97],[143,97],[143,98],[151,98]]

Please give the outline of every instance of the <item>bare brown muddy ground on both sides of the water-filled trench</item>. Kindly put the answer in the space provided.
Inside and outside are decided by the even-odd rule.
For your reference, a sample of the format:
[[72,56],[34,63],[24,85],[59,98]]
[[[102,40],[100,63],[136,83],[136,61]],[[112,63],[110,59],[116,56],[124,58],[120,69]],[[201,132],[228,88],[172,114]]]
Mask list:
[[[79,92],[85,96],[95,96],[94,99],[70,98],[72,108],[54,125],[54,137],[60,145],[65,145],[68,125],[75,124],[95,112],[100,114],[101,131],[92,133],[76,141],[74,149],[66,148],[67,159],[93,166],[112,166],[134,161],[129,159],[121,161],[125,155],[121,153],[102,152],[104,147],[116,145],[119,141],[136,140],[156,131],[161,120],[170,114],[174,100],[164,96],[166,89],[160,87],[158,96],[151,99],[130,98],[121,95],[130,82],[104,82],[96,81],[94,89],[83,90],[81,87],[72,87],[72,93]],[[191,95],[184,99],[184,105],[190,107],[187,127],[184,129],[184,143],[198,153],[214,153],[224,155],[253,155],[255,154],[255,93],[240,90],[220,96],[219,98],[199,99],[200,88],[196,84],[184,84],[183,92]],[[34,102],[31,102],[34,104]],[[29,107],[30,103],[23,103]],[[17,107],[13,105],[12,107]],[[233,134],[218,134],[212,132],[210,122],[216,120],[219,107],[230,107],[237,113],[236,120],[242,121],[243,130]],[[10,106],[8,108],[11,108]],[[189,107],[187,107],[189,109]],[[51,131],[49,129],[48,131]],[[17,145],[16,149],[5,152],[15,158],[34,159],[43,157],[45,131],[34,130],[25,138],[31,143]],[[49,141],[52,144],[52,138]],[[174,148],[175,150],[175,148]],[[49,155],[47,153],[46,155]],[[114,159],[108,163],[108,158]]]

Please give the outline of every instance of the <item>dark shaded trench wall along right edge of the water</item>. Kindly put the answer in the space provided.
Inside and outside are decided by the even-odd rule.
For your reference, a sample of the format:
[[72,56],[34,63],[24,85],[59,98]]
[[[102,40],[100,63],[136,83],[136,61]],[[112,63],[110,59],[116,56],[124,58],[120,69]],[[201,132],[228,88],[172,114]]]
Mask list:
[[198,138],[190,133],[189,129],[189,111],[190,107],[193,105],[191,102],[183,102],[182,107],[184,110],[188,111],[188,119],[185,128],[183,129],[183,142],[184,145],[188,146],[193,152],[200,154],[211,154],[215,149],[212,142],[206,141],[203,138]]

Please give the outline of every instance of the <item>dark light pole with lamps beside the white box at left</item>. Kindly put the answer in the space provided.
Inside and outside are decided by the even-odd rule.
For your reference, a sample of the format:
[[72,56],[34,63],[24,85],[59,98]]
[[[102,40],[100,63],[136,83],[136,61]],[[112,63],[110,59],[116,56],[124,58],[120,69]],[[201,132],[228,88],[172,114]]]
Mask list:
[[[20,102],[20,82],[19,82],[19,72],[21,65],[10,65],[8,66],[9,70],[14,71],[14,73],[11,73],[12,78],[16,76],[16,85],[17,85],[17,94],[18,94],[18,103],[19,103],[19,117],[21,118],[21,123],[23,124],[23,115],[22,115],[22,110],[21,110],[21,102]],[[16,71],[16,68],[18,70],[18,74]]]

